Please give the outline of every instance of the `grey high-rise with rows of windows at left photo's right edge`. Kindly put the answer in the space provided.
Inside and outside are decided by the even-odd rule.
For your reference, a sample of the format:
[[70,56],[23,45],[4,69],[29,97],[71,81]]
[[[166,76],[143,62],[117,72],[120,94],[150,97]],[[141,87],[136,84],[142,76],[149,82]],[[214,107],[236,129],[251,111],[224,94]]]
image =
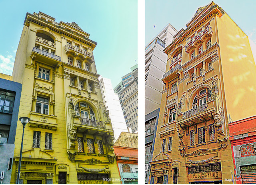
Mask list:
[[131,67],[132,72],[122,77],[114,92],[118,94],[126,126],[132,133],[138,129],[138,65]]

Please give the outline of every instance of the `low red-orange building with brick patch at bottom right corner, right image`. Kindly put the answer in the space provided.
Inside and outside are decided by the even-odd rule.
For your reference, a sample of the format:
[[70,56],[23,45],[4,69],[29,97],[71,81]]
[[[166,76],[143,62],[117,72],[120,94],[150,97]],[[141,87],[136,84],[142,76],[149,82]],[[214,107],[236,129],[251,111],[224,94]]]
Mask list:
[[236,184],[256,181],[256,116],[228,124]]

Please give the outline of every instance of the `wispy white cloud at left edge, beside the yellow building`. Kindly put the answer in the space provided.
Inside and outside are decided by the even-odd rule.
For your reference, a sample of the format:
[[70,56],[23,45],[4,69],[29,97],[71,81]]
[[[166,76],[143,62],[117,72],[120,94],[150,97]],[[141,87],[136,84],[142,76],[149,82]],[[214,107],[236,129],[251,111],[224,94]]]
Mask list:
[[14,57],[12,55],[8,54],[4,56],[0,54],[0,73],[12,75],[13,65]]

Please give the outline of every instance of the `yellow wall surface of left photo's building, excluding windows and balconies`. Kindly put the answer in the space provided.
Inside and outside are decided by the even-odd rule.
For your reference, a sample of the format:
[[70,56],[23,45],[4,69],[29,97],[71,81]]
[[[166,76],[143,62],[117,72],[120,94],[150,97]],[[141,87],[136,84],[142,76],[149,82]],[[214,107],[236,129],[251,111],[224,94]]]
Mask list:
[[[37,57],[34,58],[34,64],[33,64],[32,58],[30,56],[33,47],[35,47],[36,31],[38,31],[38,30],[46,31],[56,37],[55,55],[58,55],[61,57],[62,65],[60,65],[60,67],[58,68],[59,72],[56,73],[56,66],[50,66],[49,64],[47,64],[48,67],[51,69],[51,72],[55,71],[54,76],[52,74],[50,75],[50,80],[52,80],[54,77],[54,83],[49,82],[49,81],[43,81],[43,80],[35,77],[38,75],[38,69],[36,70],[36,73],[35,73],[36,68],[34,65],[36,63],[38,63],[38,64],[42,63],[42,65],[45,64],[44,60],[38,60]],[[54,31],[49,30],[46,27],[39,26],[38,24],[34,24],[32,22],[30,22],[28,27],[24,26],[24,28],[23,28],[22,35],[20,38],[20,43],[18,45],[18,50],[16,53],[14,70],[13,70],[13,75],[12,75],[13,81],[22,83],[20,109],[19,109],[18,116],[19,117],[27,116],[29,118],[32,118],[32,116],[34,116],[33,118],[36,118],[38,120],[40,120],[42,117],[46,116],[48,121],[56,120],[56,125],[54,125],[54,126],[56,126],[56,129],[54,130],[51,128],[50,129],[39,128],[37,126],[34,127],[34,126],[30,125],[30,123],[28,123],[25,127],[25,132],[24,132],[24,144],[23,144],[22,159],[23,159],[23,157],[27,157],[28,158],[27,160],[30,160],[29,158],[30,158],[30,153],[31,153],[32,154],[31,158],[33,158],[33,156],[36,158],[36,159],[31,159],[31,160],[41,160],[43,162],[46,162],[49,160],[50,161],[56,160],[56,163],[54,164],[52,169],[45,169],[45,166],[40,165],[40,164],[38,164],[38,166],[37,166],[38,169],[36,169],[35,165],[31,166],[31,165],[26,164],[26,169],[24,169],[24,167],[22,167],[21,172],[24,173],[24,172],[31,171],[31,173],[33,173],[33,175],[35,175],[35,177],[37,177],[36,172],[38,172],[38,173],[53,173],[52,181],[54,184],[56,184],[56,183],[58,184],[58,182],[56,181],[56,170],[57,170],[56,165],[64,165],[64,167],[68,167],[67,168],[67,170],[68,170],[67,173],[69,173],[68,174],[69,175],[68,183],[69,184],[77,184],[78,183],[77,172],[79,170],[80,170],[80,172],[84,172],[84,171],[82,171],[82,169],[80,168],[78,163],[84,164],[88,168],[98,169],[99,166],[96,165],[97,163],[89,164],[89,163],[85,162],[88,159],[96,159],[96,160],[101,161],[105,165],[106,164],[108,165],[108,169],[110,170],[110,173],[108,173],[108,174],[109,174],[110,178],[112,177],[112,178],[119,179],[119,172],[118,172],[118,167],[116,165],[116,160],[114,160],[114,163],[111,164],[108,160],[107,155],[98,156],[98,148],[97,148],[96,144],[94,144],[94,146],[95,146],[95,151],[96,151],[97,156],[87,155],[87,154],[86,155],[85,154],[77,154],[76,155],[77,161],[71,161],[68,158],[67,150],[70,147],[70,140],[69,140],[68,134],[67,134],[67,129],[68,129],[67,123],[69,121],[68,103],[69,103],[70,97],[87,98],[88,100],[90,100],[92,102],[96,102],[95,107],[97,108],[97,110],[94,110],[97,114],[96,120],[100,120],[100,121],[104,122],[104,121],[106,121],[106,118],[104,117],[104,113],[102,112],[102,110],[103,110],[102,108],[104,108],[104,104],[103,104],[103,100],[102,100],[102,94],[100,91],[100,87],[98,87],[97,89],[95,88],[95,92],[91,93],[91,97],[89,97],[87,91],[84,91],[84,90],[82,90],[83,94],[80,96],[77,88],[70,87],[70,79],[64,77],[64,66],[67,67],[67,64],[65,64],[65,63],[68,62],[68,58],[67,58],[68,55],[66,55],[66,53],[64,51],[65,45],[66,45],[66,40],[73,41],[74,39],[67,37],[67,36],[60,35]],[[80,45],[79,41],[75,40],[75,43]],[[84,47],[89,47],[84,43],[82,43],[82,45]],[[90,49],[91,49],[90,52],[92,52],[92,50],[94,48],[90,47]],[[88,79],[90,79],[93,82],[98,82],[98,74],[96,74],[97,71],[96,71],[95,62],[90,64],[90,71],[92,71],[93,73],[88,73],[85,70],[78,69],[78,67],[76,67],[76,60],[74,60],[74,66],[68,66],[68,68],[70,70],[73,70],[73,72],[72,71],[70,72],[73,75],[79,74],[82,77],[87,77]],[[52,88],[53,88],[52,89],[52,91],[53,91],[52,97],[54,98],[54,116],[38,114],[38,113],[31,113],[32,112],[32,98],[33,98],[33,94],[34,94],[35,83],[40,83],[40,84],[45,83],[48,86],[52,86]],[[49,91],[45,92],[45,93],[49,93]],[[69,98],[67,96],[69,96]],[[51,109],[50,109],[50,111],[51,111]],[[111,123],[107,124],[106,129],[108,130],[109,133],[113,132]],[[32,148],[33,132],[34,131],[41,132],[40,149]],[[45,133],[46,132],[52,133],[52,150],[45,149]],[[84,134],[82,132],[78,132],[77,136],[83,137]],[[86,138],[94,138],[94,136],[92,134],[90,134],[90,132],[88,132],[86,134]],[[15,151],[14,151],[14,157],[16,157],[16,159],[15,159],[16,161],[20,154],[21,139],[22,139],[22,124],[20,123],[20,121],[18,121],[16,138],[15,138]],[[104,136],[102,136],[102,135],[96,135],[96,139],[105,140]],[[107,146],[105,144],[103,144],[103,148],[104,148],[104,153],[106,154]],[[76,147],[74,148],[73,151],[77,152],[77,150],[78,150],[78,148],[77,148],[77,142],[76,142]],[[85,150],[85,152],[88,152],[86,142],[84,142],[84,150]],[[32,152],[30,152],[30,151],[32,151]],[[36,154],[38,154],[38,155],[36,155]],[[44,156],[45,159],[42,156]],[[100,167],[101,166],[102,165],[100,165]],[[41,168],[43,170],[38,171]],[[12,184],[16,183],[17,171],[18,171],[17,162],[14,162],[13,167],[12,167],[12,177],[11,177]],[[24,176],[21,175],[21,177],[23,178]],[[24,182],[25,181],[23,181],[23,183]],[[120,183],[120,181],[118,181],[118,180],[110,181],[110,182],[114,183],[114,184]]]

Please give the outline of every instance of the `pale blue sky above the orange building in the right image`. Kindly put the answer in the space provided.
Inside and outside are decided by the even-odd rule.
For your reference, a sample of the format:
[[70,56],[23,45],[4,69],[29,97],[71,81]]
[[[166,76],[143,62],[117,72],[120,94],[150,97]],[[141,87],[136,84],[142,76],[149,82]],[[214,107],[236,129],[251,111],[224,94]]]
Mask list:
[[[185,29],[196,10],[210,2],[212,0],[145,0],[145,46],[168,23],[178,31]],[[214,0],[214,2],[256,43],[255,0]]]

